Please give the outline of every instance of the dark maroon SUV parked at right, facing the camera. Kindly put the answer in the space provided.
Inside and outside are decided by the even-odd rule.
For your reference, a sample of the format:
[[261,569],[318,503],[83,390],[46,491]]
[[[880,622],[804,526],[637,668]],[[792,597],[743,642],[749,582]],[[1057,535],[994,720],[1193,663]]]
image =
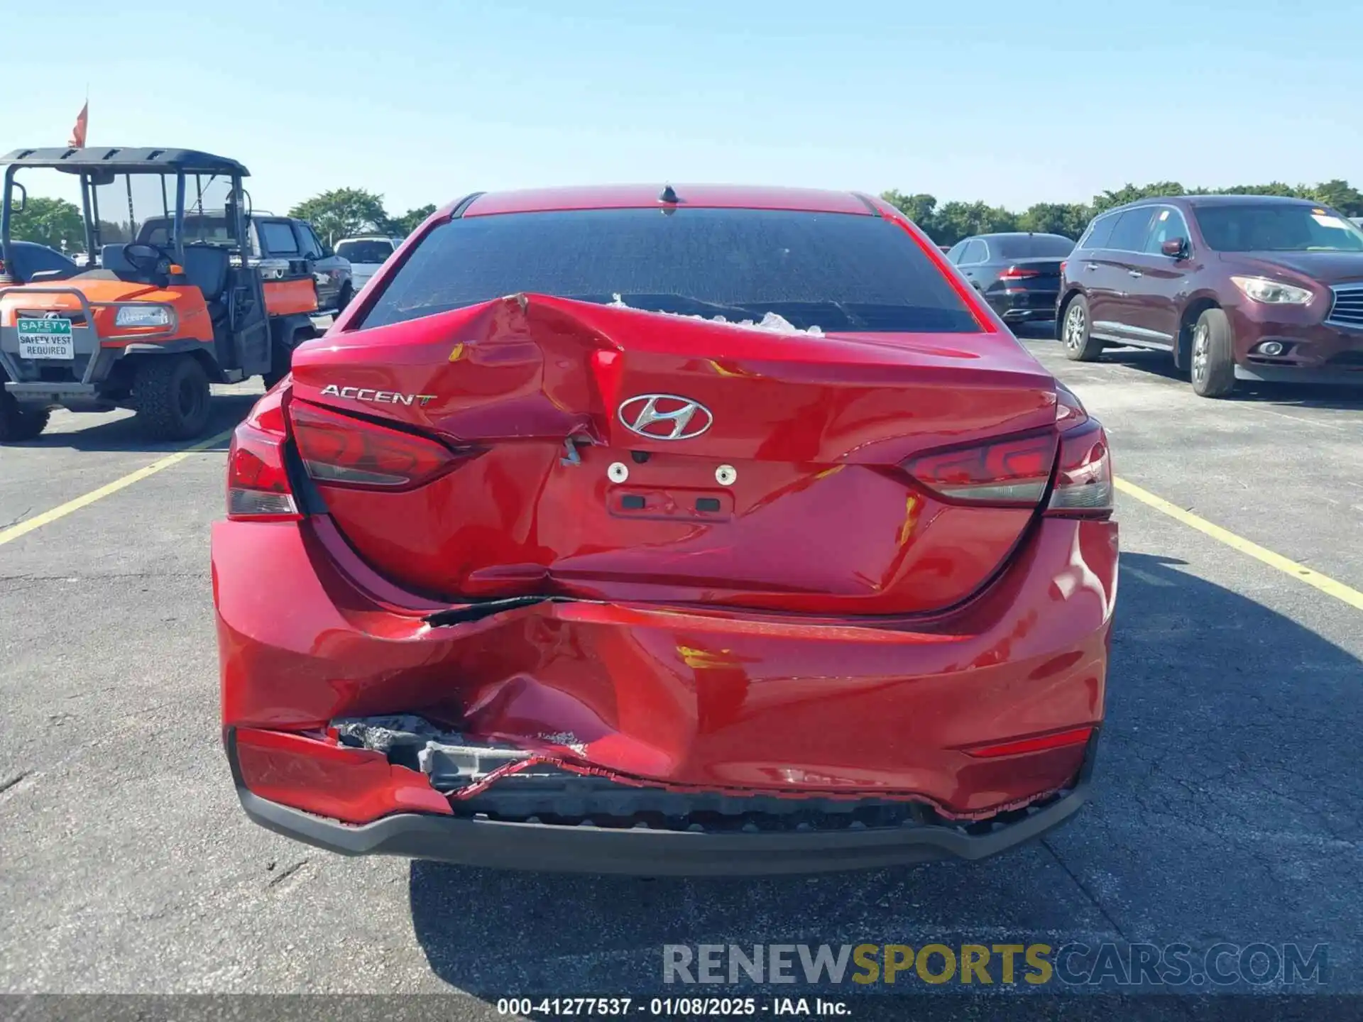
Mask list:
[[1142,199],[1062,264],[1065,354],[1169,352],[1208,398],[1236,380],[1363,386],[1363,230],[1304,199]]

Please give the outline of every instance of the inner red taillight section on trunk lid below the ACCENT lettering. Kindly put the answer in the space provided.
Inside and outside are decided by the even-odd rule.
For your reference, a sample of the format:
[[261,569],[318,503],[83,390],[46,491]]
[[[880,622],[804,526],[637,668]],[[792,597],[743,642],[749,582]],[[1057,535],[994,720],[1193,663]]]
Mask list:
[[293,442],[318,482],[350,489],[410,489],[448,471],[463,452],[439,440],[293,401]]

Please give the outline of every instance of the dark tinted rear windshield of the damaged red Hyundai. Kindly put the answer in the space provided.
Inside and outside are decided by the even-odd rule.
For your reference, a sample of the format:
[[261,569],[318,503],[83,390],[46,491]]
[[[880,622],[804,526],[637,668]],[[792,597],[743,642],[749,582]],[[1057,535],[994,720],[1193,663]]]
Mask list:
[[784,210],[571,210],[438,226],[365,326],[518,292],[825,331],[977,332],[927,253],[879,217]]

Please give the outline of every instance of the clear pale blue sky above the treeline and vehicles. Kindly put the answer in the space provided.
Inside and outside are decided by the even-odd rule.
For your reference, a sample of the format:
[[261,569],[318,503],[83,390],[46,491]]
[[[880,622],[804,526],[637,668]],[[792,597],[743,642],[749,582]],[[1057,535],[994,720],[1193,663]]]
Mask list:
[[91,144],[236,157],[277,211],[345,185],[394,213],[601,181],[1014,208],[1126,181],[1363,185],[1363,4],[1341,0],[8,8],[0,151],[64,144],[89,78]]

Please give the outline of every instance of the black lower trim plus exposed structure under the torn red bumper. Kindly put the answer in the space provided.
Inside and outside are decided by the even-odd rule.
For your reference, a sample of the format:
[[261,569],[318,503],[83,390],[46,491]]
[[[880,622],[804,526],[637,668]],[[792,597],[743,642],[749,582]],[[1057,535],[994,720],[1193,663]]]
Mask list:
[[364,824],[315,816],[245,788],[263,827],[342,854],[394,854],[463,865],[631,875],[836,872],[977,860],[1069,820],[1088,797],[1097,733],[1063,792],[981,820],[949,820],[923,801],[687,792],[551,762],[461,736],[418,717],[337,721],[342,744],[424,773],[454,815],[399,812]]

